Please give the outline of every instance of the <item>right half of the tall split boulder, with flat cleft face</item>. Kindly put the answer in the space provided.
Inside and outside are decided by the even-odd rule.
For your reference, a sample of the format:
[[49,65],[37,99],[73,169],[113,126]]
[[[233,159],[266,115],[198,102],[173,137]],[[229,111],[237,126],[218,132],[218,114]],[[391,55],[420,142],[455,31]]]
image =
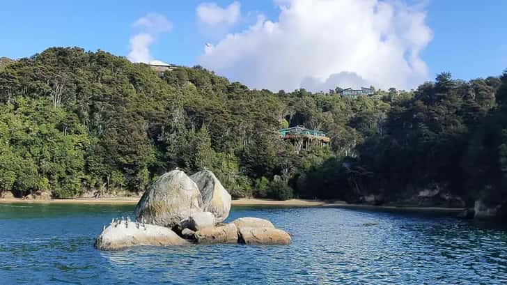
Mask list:
[[190,176],[201,191],[201,208],[213,213],[217,222],[224,222],[231,210],[231,194],[209,170],[199,171]]

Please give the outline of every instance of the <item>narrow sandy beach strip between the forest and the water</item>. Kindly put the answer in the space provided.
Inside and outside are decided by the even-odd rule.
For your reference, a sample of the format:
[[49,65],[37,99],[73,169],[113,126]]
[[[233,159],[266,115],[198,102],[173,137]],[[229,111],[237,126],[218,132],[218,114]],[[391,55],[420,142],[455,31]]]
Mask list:
[[[141,197],[115,197],[115,198],[75,198],[51,200],[24,200],[21,198],[0,199],[0,203],[49,203],[49,204],[102,204],[102,205],[134,205]],[[288,207],[322,207],[322,208],[351,208],[364,210],[425,210],[435,212],[460,213],[465,208],[445,207],[418,207],[418,206],[373,206],[366,204],[350,204],[343,201],[327,202],[309,199],[290,199],[276,201],[269,199],[242,198],[231,201],[232,206],[288,206]]]

